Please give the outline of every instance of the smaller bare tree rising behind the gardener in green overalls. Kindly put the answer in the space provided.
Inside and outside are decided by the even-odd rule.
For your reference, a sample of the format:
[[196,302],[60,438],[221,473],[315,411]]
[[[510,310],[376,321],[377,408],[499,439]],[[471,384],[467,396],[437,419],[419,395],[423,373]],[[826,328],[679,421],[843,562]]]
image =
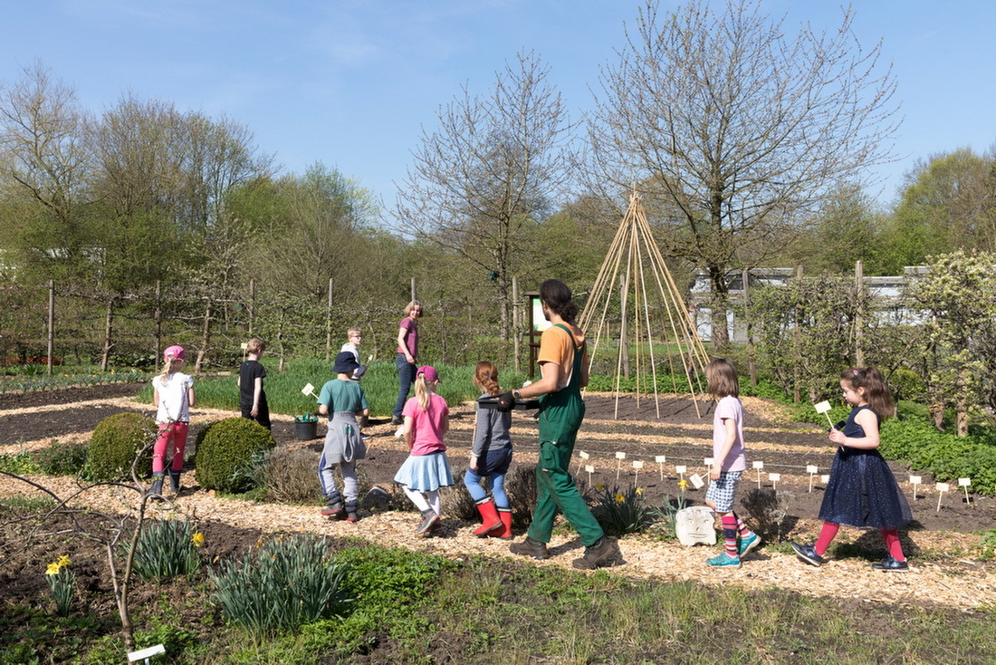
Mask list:
[[463,95],[422,131],[400,188],[398,229],[456,252],[494,281],[501,336],[511,330],[512,275],[523,232],[545,216],[568,181],[572,125],[549,68],[534,53],[495,74],[484,98]]

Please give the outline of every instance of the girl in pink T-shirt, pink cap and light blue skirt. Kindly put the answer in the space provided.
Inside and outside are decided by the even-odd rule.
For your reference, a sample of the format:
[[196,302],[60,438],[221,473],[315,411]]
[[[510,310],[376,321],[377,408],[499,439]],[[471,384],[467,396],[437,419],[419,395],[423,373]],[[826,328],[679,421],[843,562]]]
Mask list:
[[[404,439],[410,454],[394,475],[422,514],[418,533],[425,533],[439,521],[442,502],[439,488],[453,485],[453,473],[446,459],[443,435],[449,429],[449,407],[435,394],[439,374],[429,365],[415,372],[415,396],[404,404]],[[424,493],[424,494],[423,494]]]

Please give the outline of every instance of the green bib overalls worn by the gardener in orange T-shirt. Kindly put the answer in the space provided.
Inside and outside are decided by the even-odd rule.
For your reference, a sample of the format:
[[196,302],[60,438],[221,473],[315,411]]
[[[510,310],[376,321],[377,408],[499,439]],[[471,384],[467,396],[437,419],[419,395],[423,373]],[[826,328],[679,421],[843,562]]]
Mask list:
[[[558,323],[569,335],[571,330]],[[571,335],[572,341],[574,335]],[[605,535],[602,526],[581,498],[574,479],[568,473],[578,430],[585,418],[585,402],[581,399],[581,366],[585,344],[574,350],[571,382],[556,393],[540,398],[540,459],[536,466],[536,510],[529,527],[529,537],[550,542],[554,517],[560,511],[578,531],[581,541],[589,547]]]

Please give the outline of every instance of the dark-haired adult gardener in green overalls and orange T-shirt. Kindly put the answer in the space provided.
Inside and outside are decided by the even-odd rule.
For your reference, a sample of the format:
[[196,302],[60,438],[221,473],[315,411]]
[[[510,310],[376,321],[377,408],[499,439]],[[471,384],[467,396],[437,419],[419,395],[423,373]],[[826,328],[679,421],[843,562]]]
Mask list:
[[578,430],[585,418],[581,389],[588,385],[585,333],[575,325],[578,306],[571,289],[559,279],[540,286],[543,314],[553,325],[540,338],[542,378],[521,390],[500,395],[499,409],[508,410],[516,400],[540,398],[540,459],[536,467],[538,500],[529,534],[509,549],[514,554],[545,559],[547,543],[557,512],[563,512],[585,544],[585,555],[575,559],[576,568],[612,565],[621,558],[619,546],[606,536],[602,526],[578,492],[568,473]]

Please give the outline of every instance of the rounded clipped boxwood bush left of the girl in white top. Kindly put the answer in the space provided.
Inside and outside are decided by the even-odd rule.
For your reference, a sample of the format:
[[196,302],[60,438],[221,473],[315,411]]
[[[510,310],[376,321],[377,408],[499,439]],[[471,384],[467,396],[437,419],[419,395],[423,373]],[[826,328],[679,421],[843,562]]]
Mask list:
[[[152,443],[155,422],[141,414],[124,413],[105,418],[94,430],[88,451],[87,475],[94,481],[124,481],[131,477],[131,464],[139,478],[152,475]],[[147,447],[147,448],[146,448]]]

